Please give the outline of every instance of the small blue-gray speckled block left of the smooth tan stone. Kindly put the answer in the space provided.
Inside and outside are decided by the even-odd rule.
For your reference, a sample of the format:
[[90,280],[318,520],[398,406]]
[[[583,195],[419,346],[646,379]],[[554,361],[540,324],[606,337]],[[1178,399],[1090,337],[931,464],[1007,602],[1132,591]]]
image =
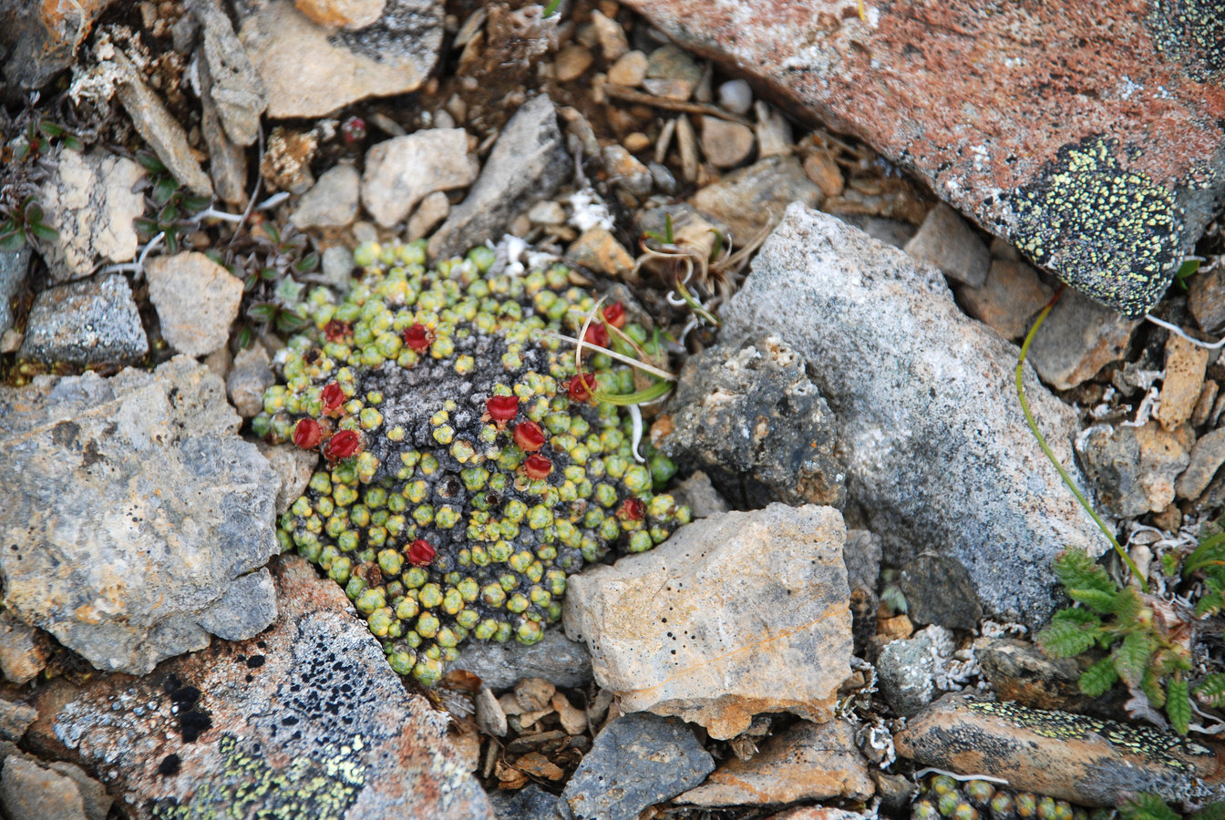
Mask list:
[[72,365],[132,362],[148,339],[121,273],[49,288],[34,297],[20,359]]

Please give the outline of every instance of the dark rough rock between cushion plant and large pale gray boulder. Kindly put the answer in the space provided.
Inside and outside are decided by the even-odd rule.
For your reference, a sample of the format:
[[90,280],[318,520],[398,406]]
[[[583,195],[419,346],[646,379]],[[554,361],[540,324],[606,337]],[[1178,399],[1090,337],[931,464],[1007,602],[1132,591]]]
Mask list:
[[655,445],[681,469],[709,475],[735,507],[782,501],[840,508],[846,501],[837,421],[804,361],[778,337],[692,356],[666,412],[671,431]]

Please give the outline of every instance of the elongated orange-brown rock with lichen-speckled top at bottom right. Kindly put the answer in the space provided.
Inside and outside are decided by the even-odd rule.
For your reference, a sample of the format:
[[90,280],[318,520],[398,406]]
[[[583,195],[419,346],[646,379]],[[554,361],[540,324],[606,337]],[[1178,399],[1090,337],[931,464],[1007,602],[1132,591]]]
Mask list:
[[947,695],[894,736],[898,755],[1018,791],[1116,807],[1155,792],[1167,803],[1225,799],[1225,747],[1069,712]]

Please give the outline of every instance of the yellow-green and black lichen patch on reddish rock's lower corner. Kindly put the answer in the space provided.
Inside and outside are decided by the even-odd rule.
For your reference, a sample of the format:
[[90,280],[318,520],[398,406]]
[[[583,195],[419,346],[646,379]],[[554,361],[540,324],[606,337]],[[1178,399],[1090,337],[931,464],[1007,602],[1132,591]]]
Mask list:
[[1182,212],[1164,186],[1125,170],[1117,153],[1118,141],[1100,136],[1065,146],[1008,203],[1023,253],[1136,317],[1169,285],[1182,252]]

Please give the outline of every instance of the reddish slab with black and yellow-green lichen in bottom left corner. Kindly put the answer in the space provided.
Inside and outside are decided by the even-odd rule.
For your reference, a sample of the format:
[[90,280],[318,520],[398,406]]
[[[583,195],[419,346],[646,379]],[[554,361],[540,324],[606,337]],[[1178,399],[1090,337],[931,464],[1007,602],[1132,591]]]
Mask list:
[[446,739],[336,584],[301,558],[274,570],[281,614],[146,678],[56,682],[27,737],[96,767],[134,820],[490,818]]

